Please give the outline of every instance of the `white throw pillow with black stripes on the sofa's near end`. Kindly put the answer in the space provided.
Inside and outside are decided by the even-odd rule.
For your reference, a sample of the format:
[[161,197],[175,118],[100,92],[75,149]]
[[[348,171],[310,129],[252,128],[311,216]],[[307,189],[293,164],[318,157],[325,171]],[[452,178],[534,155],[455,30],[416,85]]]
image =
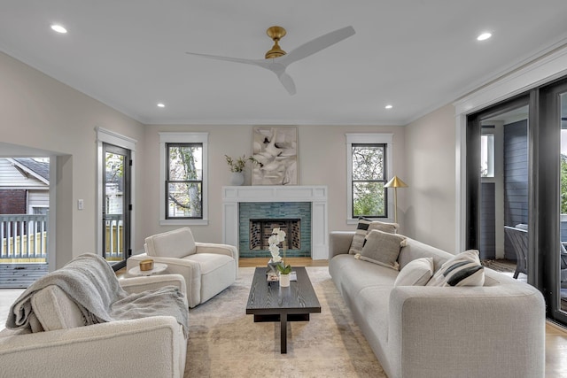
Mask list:
[[449,258],[426,286],[482,286],[485,269],[480,265],[477,250],[468,250]]

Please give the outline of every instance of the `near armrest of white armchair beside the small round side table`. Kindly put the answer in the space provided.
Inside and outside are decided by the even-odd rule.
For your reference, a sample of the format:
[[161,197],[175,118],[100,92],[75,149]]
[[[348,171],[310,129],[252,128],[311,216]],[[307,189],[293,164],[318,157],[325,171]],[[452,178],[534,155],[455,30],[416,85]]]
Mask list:
[[162,258],[148,256],[146,253],[134,255],[126,260],[128,269],[139,264],[145,258],[151,258],[156,263],[167,264],[167,274],[180,274],[185,279],[187,302],[190,307],[201,303],[201,266],[198,262],[185,258]]

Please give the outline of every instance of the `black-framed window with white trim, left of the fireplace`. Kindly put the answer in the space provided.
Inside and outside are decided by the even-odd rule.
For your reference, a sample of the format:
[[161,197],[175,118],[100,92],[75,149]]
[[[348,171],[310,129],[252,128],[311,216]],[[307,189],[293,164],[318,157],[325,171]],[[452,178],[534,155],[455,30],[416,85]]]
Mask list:
[[159,133],[160,224],[207,224],[207,133]]

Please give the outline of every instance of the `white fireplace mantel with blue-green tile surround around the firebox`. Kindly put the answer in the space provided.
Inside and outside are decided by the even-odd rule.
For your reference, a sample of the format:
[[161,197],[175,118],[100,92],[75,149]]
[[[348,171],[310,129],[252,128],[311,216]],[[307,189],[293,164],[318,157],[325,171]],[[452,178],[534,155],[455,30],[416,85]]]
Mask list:
[[[279,209],[269,215],[253,214],[243,219],[241,207],[250,203],[252,210],[275,206]],[[289,206],[305,206],[307,210],[291,212]],[[241,257],[258,250],[250,249],[251,220],[299,219],[299,256],[326,259],[329,254],[326,186],[239,186],[222,187],[222,243],[236,245]],[[300,215],[297,215],[297,214]],[[287,233],[287,232],[286,232]],[[291,251],[291,250],[288,250]],[[268,250],[266,250],[269,256]]]

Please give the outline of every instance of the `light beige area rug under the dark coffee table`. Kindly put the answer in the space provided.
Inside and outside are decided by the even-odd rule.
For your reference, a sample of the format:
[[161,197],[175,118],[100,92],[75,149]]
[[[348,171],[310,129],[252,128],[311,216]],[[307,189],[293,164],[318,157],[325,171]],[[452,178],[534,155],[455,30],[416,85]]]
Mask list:
[[279,323],[254,323],[245,313],[253,270],[239,268],[235,284],[190,310],[185,378],[385,377],[327,267],[307,267],[322,312],[288,322],[287,354]]

